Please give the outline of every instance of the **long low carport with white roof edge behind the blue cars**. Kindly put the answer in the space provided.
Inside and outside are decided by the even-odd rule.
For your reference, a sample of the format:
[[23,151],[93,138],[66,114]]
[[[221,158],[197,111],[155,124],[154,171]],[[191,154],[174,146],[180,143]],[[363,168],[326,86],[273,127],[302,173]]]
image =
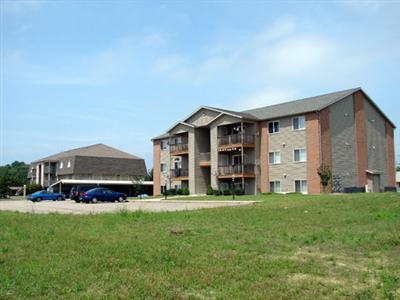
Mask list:
[[69,194],[74,185],[95,185],[107,187],[116,192],[134,196],[135,186],[140,185],[143,194],[153,194],[153,181],[61,179],[48,187],[48,190]]

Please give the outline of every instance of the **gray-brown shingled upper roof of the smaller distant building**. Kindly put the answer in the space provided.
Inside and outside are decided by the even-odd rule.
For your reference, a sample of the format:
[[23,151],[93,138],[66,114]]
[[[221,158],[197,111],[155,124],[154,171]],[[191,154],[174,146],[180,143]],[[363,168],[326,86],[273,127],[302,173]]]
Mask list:
[[95,144],[91,146],[76,148],[60,152],[51,156],[47,156],[42,159],[38,159],[34,162],[39,161],[56,161],[63,157],[72,156],[90,156],[90,157],[111,157],[111,158],[129,158],[129,159],[141,159],[135,155],[123,152],[121,150],[112,148],[104,144]]

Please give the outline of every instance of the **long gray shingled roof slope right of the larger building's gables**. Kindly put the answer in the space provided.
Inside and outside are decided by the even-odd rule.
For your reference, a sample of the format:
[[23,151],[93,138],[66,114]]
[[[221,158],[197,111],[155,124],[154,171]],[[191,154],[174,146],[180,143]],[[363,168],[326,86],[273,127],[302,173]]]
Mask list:
[[276,105],[269,105],[261,108],[245,110],[244,113],[252,115],[259,120],[268,120],[283,116],[291,116],[311,111],[319,111],[336,101],[339,101],[360,88],[354,88],[315,97],[304,98],[300,100],[285,102]]

